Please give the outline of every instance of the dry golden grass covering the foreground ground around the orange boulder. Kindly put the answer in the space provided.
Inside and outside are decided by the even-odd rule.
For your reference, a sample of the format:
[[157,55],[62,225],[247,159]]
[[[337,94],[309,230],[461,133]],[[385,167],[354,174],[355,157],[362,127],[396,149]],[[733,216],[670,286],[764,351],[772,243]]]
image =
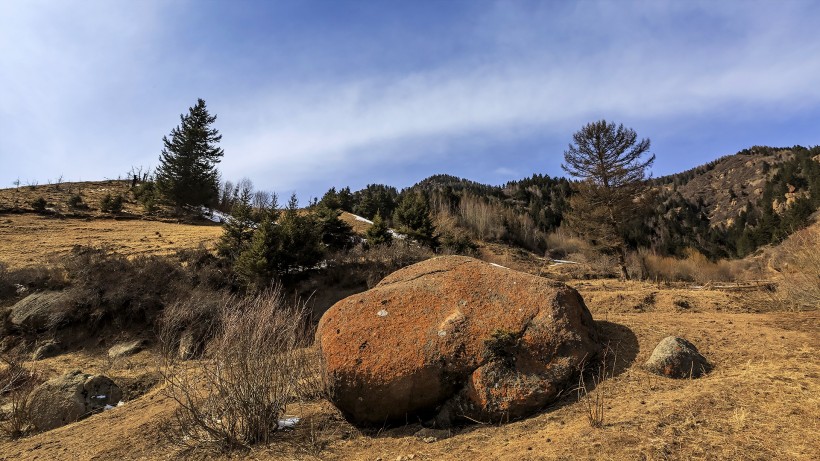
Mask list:
[[[288,409],[302,417],[278,441],[231,459],[536,460],[536,459],[820,459],[820,315],[800,313],[612,313],[590,303],[618,350],[605,392],[602,428],[568,394],[545,412],[502,426],[461,428],[425,443],[418,424],[362,431],[325,401]],[[742,309],[737,309],[742,310]],[[715,370],[671,380],[640,365],[667,335],[695,342]],[[136,378],[156,366],[152,352],[110,363],[104,350],[32,364],[52,376],[81,368]],[[0,442],[0,459],[227,459],[186,452],[168,436],[174,404],[154,390],[122,407],[51,432]]]

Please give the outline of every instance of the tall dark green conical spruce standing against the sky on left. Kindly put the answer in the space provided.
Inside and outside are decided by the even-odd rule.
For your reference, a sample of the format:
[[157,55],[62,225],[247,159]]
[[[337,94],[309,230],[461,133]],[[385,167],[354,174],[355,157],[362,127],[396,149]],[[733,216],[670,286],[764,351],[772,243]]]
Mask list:
[[211,128],[216,115],[210,115],[205,101],[198,99],[180,124],[163,136],[156,182],[159,192],[176,206],[211,205],[218,198],[219,173],[216,164],[223,150],[217,147],[222,135]]

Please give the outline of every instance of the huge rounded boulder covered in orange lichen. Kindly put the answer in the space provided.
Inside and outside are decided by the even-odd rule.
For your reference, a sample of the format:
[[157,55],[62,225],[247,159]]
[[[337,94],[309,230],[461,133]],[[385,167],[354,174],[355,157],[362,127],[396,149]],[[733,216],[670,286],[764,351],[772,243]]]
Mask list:
[[577,291],[462,256],[414,264],[339,301],[317,340],[333,403],[377,425],[532,414],[600,348]]

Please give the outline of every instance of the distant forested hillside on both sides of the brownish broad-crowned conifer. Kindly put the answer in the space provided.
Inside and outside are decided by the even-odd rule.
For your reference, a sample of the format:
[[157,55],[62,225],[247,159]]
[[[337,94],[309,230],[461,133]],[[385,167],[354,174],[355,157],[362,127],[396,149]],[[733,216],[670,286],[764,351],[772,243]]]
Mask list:
[[[651,205],[623,225],[632,249],[662,256],[696,250],[709,258],[742,257],[805,227],[820,207],[820,147],[752,147],[691,170],[651,180]],[[502,186],[450,175],[398,191],[387,185],[329,190],[320,203],[368,219],[396,222],[409,196],[423,196],[443,242],[506,242],[548,250],[547,235],[571,212],[572,182],[535,174]]]

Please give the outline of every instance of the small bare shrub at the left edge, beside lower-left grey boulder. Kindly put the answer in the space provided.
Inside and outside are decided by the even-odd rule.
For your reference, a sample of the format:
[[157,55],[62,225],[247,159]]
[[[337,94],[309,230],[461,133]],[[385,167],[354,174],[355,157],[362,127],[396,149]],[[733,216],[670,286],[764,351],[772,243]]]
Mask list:
[[19,356],[0,355],[0,397],[8,402],[0,414],[0,431],[11,438],[18,438],[30,429],[28,396],[41,382],[37,375],[23,366]]

